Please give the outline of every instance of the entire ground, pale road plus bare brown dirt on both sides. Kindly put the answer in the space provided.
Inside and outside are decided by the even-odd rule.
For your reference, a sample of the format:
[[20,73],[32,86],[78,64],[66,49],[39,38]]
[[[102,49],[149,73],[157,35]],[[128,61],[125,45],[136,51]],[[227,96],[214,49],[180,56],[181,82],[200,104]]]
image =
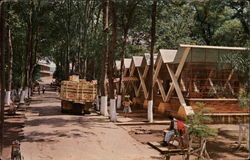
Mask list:
[[[145,121],[145,110],[133,110],[124,118],[119,110],[120,123]],[[35,95],[25,116],[22,113],[5,120],[5,157],[10,155],[13,140],[22,140],[21,150],[25,160],[144,160],[163,159],[147,142],[162,141],[162,125],[116,126],[97,114],[79,116],[60,112],[60,100],[54,92]],[[155,120],[166,120],[155,116]],[[22,127],[24,126],[22,130]],[[216,138],[208,141],[212,159],[246,159],[247,151],[235,152],[232,144],[237,141],[237,125],[211,125],[219,130]],[[128,134],[129,133],[129,134]],[[181,159],[181,156],[171,157]]]

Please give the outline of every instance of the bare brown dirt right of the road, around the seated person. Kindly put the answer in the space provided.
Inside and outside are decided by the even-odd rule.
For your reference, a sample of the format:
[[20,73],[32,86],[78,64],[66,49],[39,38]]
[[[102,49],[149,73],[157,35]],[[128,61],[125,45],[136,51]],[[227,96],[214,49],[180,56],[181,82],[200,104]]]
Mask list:
[[[217,129],[218,136],[208,140],[207,150],[212,159],[242,160],[247,159],[248,151],[244,147],[239,151],[234,149],[238,140],[238,125],[210,125]],[[138,142],[159,142],[163,140],[163,129],[167,125],[124,125],[122,126]],[[177,158],[177,156],[173,156]],[[179,156],[177,159],[181,159]]]

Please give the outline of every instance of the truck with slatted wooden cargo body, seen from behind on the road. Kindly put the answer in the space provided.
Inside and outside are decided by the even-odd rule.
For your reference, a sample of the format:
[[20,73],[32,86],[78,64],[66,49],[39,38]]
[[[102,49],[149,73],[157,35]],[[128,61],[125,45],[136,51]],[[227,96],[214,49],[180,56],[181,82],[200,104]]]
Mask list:
[[95,103],[96,84],[72,75],[61,82],[60,99],[62,113],[90,113]]

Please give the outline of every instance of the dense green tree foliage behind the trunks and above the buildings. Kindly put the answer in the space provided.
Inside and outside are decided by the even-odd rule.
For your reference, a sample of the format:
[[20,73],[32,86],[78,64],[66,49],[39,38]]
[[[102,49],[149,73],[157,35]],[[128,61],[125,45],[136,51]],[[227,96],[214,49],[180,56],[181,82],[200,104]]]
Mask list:
[[[116,1],[116,59],[120,59],[121,53],[122,20],[127,22],[125,15],[135,3],[126,53],[131,57],[149,52],[152,1]],[[249,8],[249,3],[240,0],[158,1],[156,48],[175,49],[181,43],[249,47]],[[94,78],[99,78],[104,45],[102,1],[34,1],[33,5],[7,2],[6,25],[13,35],[14,86],[20,86],[23,78],[20,70],[25,70],[26,35],[31,13],[32,29],[37,32],[34,39],[38,42],[37,57],[48,57],[56,63],[56,78],[66,78],[69,63],[75,64],[73,71],[79,67],[83,70],[84,63],[78,64],[79,58],[94,59]],[[223,63],[230,63],[240,71],[242,77],[249,71],[249,61],[249,56],[243,53],[223,59]]]

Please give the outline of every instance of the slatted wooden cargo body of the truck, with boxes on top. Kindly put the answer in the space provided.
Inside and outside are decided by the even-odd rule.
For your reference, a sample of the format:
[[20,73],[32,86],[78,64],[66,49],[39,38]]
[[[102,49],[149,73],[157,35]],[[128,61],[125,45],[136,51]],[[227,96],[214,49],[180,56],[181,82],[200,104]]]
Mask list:
[[60,98],[75,103],[94,102],[96,96],[96,85],[79,79],[77,76],[70,76],[69,81],[62,81]]

